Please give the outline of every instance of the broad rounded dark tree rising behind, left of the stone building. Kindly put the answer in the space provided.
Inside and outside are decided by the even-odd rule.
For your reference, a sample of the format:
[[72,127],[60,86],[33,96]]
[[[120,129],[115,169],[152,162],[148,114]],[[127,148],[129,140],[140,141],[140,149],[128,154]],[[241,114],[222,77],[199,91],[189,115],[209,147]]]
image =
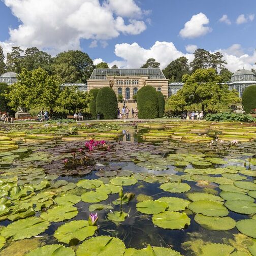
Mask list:
[[92,59],[79,50],[57,54],[52,65],[52,73],[61,83],[85,83],[93,69]]

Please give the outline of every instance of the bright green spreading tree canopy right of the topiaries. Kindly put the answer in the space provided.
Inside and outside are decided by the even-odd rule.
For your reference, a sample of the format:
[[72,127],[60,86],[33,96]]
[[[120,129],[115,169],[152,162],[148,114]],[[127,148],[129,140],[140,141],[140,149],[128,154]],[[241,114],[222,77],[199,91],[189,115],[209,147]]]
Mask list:
[[231,104],[240,103],[238,93],[221,84],[221,77],[214,69],[199,69],[183,76],[184,85],[167,101],[168,112],[203,110],[219,112]]

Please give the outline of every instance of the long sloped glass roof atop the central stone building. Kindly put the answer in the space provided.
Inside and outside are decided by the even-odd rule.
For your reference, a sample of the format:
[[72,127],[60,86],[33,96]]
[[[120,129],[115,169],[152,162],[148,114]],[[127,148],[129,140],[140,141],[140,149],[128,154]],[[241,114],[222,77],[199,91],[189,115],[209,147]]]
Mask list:
[[90,79],[107,79],[107,76],[147,76],[149,79],[165,79],[161,69],[94,69]]

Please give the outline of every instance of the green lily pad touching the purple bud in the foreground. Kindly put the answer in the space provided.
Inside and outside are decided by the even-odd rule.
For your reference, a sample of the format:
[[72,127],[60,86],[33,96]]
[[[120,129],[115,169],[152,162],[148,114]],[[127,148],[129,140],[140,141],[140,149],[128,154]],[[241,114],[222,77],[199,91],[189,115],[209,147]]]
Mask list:
[[72,239],[83,241],[93,236],[97,229],[97,226],[89,226],[87,220],[73,220],[58,227],[53,236],[61,243],[69,243]]

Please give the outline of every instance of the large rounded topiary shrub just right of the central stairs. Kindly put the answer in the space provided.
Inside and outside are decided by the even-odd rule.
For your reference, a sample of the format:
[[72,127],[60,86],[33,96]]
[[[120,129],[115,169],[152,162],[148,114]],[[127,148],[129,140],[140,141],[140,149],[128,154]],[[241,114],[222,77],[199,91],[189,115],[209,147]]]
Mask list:
[[137,94],[139,118],[153,119],[158,117],[158,95],[154,87],[143,86]]

